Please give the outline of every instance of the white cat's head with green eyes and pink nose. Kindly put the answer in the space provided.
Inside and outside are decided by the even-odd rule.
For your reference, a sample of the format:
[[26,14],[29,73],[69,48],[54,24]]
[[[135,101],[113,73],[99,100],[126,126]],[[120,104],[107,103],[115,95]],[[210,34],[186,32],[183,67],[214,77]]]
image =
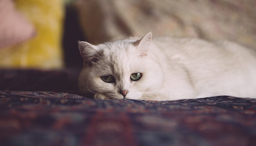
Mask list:
[[152,33],[141,39],[118,40],[99,45],[79,42],[84,67],[79,75],[81,91],[112,99],[143,99],[162,85],[162,68],[153,58]]

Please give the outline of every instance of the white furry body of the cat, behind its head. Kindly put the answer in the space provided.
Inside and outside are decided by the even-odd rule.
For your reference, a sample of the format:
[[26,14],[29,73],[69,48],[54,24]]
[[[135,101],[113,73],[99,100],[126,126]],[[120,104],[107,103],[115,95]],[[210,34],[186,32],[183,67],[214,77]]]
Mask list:
[[216,95],[256,97],[254,50],[233,42],[195,38],[155,38],[152,42],[154,55],[162,62],[167,75],[166,86],[174,80],[169,79],[170,74],[182,75],[177,82],[189,81],[198,92],[198,98]]

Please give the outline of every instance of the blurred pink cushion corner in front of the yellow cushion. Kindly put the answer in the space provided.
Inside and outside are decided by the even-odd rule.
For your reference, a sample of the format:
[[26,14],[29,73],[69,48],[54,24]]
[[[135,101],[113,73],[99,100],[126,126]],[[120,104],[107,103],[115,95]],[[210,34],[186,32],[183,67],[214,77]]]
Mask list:
[[19,13],[13,0],[0,0],[0,49],[35,35],[34,27]]

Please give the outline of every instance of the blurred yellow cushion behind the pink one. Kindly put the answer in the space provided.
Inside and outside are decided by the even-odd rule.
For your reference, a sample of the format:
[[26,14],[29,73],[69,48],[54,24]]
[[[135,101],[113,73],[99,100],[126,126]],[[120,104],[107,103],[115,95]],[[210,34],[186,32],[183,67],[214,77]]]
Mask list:
[[63,0],[15,0],[16,7],[34,24],[36,36],[22,44],[0,50],[0,67],[60,69]]

